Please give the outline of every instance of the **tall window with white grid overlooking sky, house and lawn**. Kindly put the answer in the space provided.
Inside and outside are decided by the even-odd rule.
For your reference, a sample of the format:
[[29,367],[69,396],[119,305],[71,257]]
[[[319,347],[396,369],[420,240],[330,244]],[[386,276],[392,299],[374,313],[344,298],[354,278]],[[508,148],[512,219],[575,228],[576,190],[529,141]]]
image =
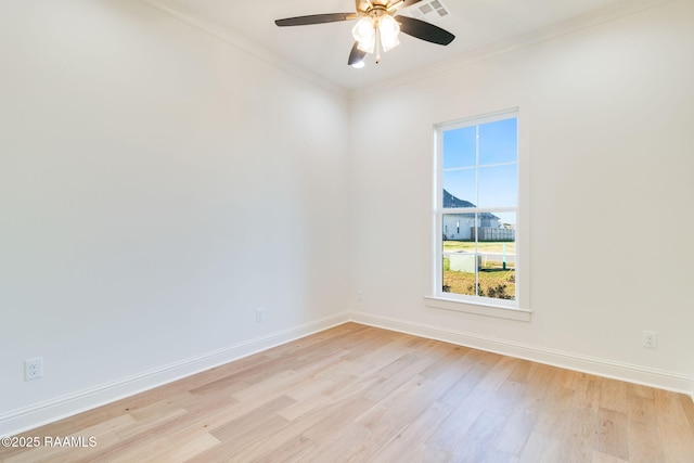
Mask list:
[[518,117],[436,127],[434,297],[517,305]]

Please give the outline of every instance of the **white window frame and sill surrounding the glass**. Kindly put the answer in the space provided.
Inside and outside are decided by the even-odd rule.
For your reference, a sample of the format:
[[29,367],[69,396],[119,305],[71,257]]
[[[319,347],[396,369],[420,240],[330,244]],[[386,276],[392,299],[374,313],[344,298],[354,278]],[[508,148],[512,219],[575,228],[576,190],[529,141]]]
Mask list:
[[[518,168],[517,173],[517,182],[518,182],[518,193],[517,193],[517,204],[515,206],[516,214],[516,231],[515,231],[515,242],[516,242],[516,256],[515,256],[515,279],[516,279],[516,294],[515,299],[496,299],[483,296],[475,295],[462,295],[454,293],[445,293],[442,291],[444,283],[444,270],[442,270],[442,257],[444,257],[444,215],[446,214],[457,214],[461,213],[461,209],[444,209],[442,208],[442,191],[444,191],[444,146],[442,146],[442,133],[447,130],[470,127],[470,126],[478,126],[487,123],[493,123],[497,120],[509,119],[515,117],[518,124],[518,140],[517,140],[517,158],[516,165]],[[527,298],[525,298],[524,285],[522,284],[526,278],[527,268],[524,263],[524,257],[526,248],[525,245],[525,235],[523,231],[527,228],[525,227],[524,220],[525,217],[520,214],[524,208],[524,200],[525,196],[522,194],[522,191],[526,188],[526,179],[525,176],[522,175],[526,171],[525,168],[522,168],[522,158],[524,157],[522,150],[522,139],[525,139],[524,133],[522,134],[522,118],[519,116],[518,108],[512,108],[490,114],[485,114],[480,116],[472,116],[463,119],[437,124],[434,126],[434,205],[433,205],[433,265],[432,265],[432,275],[433,275],[433,284],[432,284],[432,296],[425,297],[425,304],[427,307],[439,308],[445,310],[457,310],[467,313],[476,313],[489,317],[498,317],[510,320],[518,320],[518,321],[530,321],[530,310],[527,309]],[[525,130],[523,130],[525,131]],[[503,208],[481,208],[475,207],[470,210],[464,209],[463,213],[473,214],[473,213],[494,213],[494,210],[500,211],[509,211],[507,207]],[[523,227],[522,227],[523,226]]]

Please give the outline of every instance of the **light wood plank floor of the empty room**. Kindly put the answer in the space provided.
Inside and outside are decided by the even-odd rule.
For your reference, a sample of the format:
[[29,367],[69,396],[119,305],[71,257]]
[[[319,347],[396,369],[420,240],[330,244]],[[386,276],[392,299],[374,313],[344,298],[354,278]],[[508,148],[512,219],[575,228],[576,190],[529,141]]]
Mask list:
[[347,323],[35,429],[8,462],[694,462],[689,396]]

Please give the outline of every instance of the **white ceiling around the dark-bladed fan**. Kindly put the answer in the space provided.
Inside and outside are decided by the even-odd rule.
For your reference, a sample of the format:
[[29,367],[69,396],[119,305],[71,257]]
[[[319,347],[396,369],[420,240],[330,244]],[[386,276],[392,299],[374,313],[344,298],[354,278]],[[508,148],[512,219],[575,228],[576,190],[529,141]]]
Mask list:
[[442,0],[451,15],[435,23],[455,35],[448,47],[401,34],[400,46],[376,65],[347,66],[354,43],[354,22],[278,27],[274,20],[319,13],[355,11],[354,0],[144,0],[197,20],[254,47],[269,51],[342,87],[358,90],[434,63],[464,56],[514,37],[547,29],[604,9],[642,0]]

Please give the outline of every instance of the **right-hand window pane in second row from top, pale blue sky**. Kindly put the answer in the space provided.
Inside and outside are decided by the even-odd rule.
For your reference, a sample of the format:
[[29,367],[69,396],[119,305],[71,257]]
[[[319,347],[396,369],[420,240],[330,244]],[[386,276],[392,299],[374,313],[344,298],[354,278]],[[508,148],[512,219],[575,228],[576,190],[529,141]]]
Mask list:
[[480,167],[478,179],[479,207],[516,206],[518,204],[518,167],[506,166]]

